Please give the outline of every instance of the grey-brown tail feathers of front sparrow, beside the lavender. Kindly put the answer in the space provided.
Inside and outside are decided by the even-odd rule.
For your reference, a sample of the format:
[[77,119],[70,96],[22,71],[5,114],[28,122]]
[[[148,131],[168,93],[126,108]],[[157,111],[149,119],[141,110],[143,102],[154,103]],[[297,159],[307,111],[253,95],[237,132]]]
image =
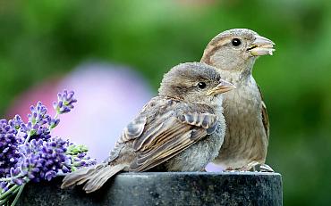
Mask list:
[[107,163],[102,163],[89,168],[80,169],[65,176],[61,188],[86,183],[83,190],[89,194],[98,190],[110,177],[115,176],[116,173],[124,168],[125,165],[123,164],[110,166]]

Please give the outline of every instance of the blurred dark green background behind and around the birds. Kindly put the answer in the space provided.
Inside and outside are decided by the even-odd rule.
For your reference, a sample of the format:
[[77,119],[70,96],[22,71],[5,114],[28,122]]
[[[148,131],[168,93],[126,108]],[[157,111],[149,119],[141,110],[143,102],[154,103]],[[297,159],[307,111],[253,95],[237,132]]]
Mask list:
[[155,90],[165,71],[199,61],[225,29],[276,42],[255,64],[271,123],[267,162],[284,205],[331,204],[331,2],[0,0],[0,114],[13,98],[80,62],[137,68]]

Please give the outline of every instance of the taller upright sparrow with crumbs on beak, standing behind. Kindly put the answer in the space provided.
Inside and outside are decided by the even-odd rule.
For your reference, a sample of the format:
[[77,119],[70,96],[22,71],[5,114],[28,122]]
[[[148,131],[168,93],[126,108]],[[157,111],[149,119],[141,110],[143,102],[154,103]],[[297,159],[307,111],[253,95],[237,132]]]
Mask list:
[[274,43],[250,29],[230,29],[214,37],[200,62],[216,67],[235,90],[224,94],[225,141],[213,161],[225,170],[273,171],[265,164],[269,139],[266,104],[252,76],[256,59],[272,55]]

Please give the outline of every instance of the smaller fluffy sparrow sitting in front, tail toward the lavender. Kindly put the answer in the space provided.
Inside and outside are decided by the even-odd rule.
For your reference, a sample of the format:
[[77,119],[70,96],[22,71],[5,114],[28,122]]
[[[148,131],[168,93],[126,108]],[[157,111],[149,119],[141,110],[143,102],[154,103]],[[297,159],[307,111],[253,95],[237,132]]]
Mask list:
[[158,95],[123,129],[106,161],[64,177],[62,188],[98,190],[121,171],[201,171],[225,136],[221,94],[234,88],[205,63],[182,63],[165,74]]

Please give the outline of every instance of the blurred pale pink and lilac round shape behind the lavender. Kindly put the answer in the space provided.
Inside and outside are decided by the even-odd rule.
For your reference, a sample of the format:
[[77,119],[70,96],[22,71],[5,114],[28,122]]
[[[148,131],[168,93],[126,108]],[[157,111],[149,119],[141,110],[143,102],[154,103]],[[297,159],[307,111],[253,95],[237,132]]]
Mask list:
[[110,63],[89,62],[78,66],[65,77],[46,79],[19,95],[8,111],[23,119],[30,105],[41,101],[54,115],[52,103],[64,89],[75,92],[78,103],[70,113],[60,116],[53,136],[85,144],[98,161],[106,159],[122,129],[152,96],[149,85],[134,70]]

